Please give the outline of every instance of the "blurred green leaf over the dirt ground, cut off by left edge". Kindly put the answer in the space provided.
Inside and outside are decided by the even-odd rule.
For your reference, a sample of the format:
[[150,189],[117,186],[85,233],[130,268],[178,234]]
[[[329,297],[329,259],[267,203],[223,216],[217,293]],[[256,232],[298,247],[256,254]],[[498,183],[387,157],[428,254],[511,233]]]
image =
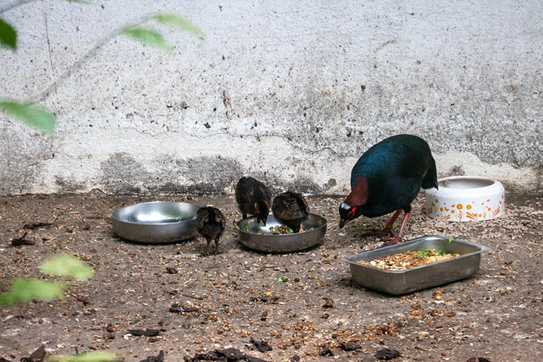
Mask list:
[[9,306],[33,299],[40,301],[62,299],[66,288],[67,285],[61,282],[41,281],[36,278],[14,278],[10,281],[10,289],[0,294],[0,306]]

